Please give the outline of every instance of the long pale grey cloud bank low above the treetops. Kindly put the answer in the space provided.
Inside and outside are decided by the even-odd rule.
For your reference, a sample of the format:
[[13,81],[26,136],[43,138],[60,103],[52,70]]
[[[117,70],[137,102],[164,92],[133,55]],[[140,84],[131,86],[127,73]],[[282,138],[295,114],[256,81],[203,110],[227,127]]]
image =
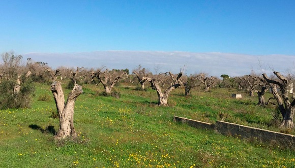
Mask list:
[[94,51],[79,53],[27,53],[24,58],[47,62],[52,68],[58,66],[83,66],[84,68],[129,69],[132,71],[139,64],[152,73],[179,73],[185,67],[187,75],[208,73],[220,77],[270,73],[273,70],[287,73],[295,69],[295,55],[247,55],[220,52],[164,52],[164,51]]

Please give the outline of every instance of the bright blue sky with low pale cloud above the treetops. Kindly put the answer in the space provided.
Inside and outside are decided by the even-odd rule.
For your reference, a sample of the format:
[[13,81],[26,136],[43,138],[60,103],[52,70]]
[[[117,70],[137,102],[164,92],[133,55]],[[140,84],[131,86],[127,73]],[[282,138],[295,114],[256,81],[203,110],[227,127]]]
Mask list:
[[[128,64],[130,67],[126,68],[129,69],[146,62],[136,61],[134,65],[124,62],[124,57],[128,56],[124,54],[130,52],[138,52],[138,55],[145,53],[151,62],[159,57],[151,52],[165,53],[163,59],[157,59],[150,65],[150,69],[165,64],[166,60],[171,63],[169,66],[163,65],[163,69],[171,68],[174,57],[167,53],[189,53],[206,55],[205,60],[208,60],[201,65],[191,66],[190,73],[208,71],[214,75],[221,72],[209,69],[225,65],[212,63],[210,58],[217,59],[218,63],[219,59],[224,60],[226,55],[231,55],[228,64],[232,65],[237,62],[241,64],[241,59],[250,59],[248,56],[251,60],[254,57],[252,63],[240,66],[243,68],[241,73],[246,73],[257,67],[261,57],[265,60],[264,64],[282,69],[276,60],[286,56],[288,59],[282,62],[286,70],[293,66],[292,59],[295,58],[294,9],[293,0],[1,0],[0,52],[14,51],[24,56],[39,54],[36,61],[59,55],[69,62],[71,56],[77,54],[82,60],[87,58],[86,55],[89,57],[92,54],[91,57],[96,58],[102,57],[97,54],[99,52],[112,55],[112,51],[117,51],[123,55],[105,59],[120,60]],[[213,53],[221,54],[216,57]],[[133,54],[129,61],[137,60],[136,55]],[[178,62],[174,63],[188,64],[198,60],[186,59],[184,55],[180,55],[180,58],[175,59]],[[51,62],[52,66],[65,63],[57,60]],[[78,63],[77,66],[80,66]],[[96,63],[87,65],[105,64],[119,69],[119,64],[111,64],[109,60],[100,59]]]

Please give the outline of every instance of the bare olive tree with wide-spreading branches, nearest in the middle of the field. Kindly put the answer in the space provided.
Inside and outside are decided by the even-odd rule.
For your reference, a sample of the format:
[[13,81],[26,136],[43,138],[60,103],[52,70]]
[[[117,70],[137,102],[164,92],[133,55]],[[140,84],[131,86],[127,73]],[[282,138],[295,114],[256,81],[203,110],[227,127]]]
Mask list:
[[[149,81],[152,85],[152,88],[157,91],[159,99],[158,105],[168,106],[169,93],[183,85],[183,82],[181,81],[182,75],[182,72],[180,72],[178,75],[174,75],[171,72],[166,72],[165,74],[154,76],[154,78],[142,77],[140,83]],[[166,78],[167,76],[168,78]]]

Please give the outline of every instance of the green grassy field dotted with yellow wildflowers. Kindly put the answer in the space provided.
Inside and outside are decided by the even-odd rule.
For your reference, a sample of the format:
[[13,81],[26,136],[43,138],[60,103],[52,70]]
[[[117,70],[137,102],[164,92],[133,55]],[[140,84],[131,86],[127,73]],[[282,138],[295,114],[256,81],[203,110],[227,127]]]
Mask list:
[[158,107],[155,90],[124,85],[115,88],[121,98],[100,96],[101,85],[83,85],[74,114],[78,139],[57,142],[50,86],[36,84],[32,108],[0,111],[0,167],[295,167],[292,150],[173,122],[176,115],[284,131],[272,121],[276,108],[255,106],[257,97],[232,99],[239,91],[220,88],[186,97],[180,88],[169,107]]

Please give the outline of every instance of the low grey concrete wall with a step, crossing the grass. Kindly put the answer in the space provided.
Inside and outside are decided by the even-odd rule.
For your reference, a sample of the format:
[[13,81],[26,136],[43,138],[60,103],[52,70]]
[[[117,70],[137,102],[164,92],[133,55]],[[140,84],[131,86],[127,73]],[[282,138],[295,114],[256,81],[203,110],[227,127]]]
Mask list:
[[262,142],[274,141],[286,148],[295,147],[295,136],[285,133],[269,131],[224,121],[216,121],[215,124],[191,120],[183,117],[174,117],[174,121],[187,123],[196,128],[215,129],[225,136],[239,136],[241,138],[257,138]]

